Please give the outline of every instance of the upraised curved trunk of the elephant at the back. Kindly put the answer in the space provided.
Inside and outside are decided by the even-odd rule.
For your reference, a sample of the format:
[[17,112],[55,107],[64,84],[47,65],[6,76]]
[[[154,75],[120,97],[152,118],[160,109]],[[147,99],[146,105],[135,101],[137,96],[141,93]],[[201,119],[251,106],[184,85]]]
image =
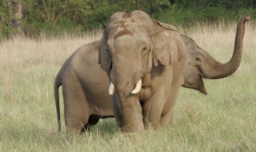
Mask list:
[[207,62],[210,64],[208,68],[201,68],[202,70],[202,78],[210,78],[210,79],[218,79],[225,78],[234,74],[234,72],[238,69],[242,58],[242,40],[245,34],[245,24],[246,21],[250,20],[250,15],[247,14],[238,22],[237,33],[234,42],[234,53],[229,62],[220,63],[216,61],[214,58],[207,58]]

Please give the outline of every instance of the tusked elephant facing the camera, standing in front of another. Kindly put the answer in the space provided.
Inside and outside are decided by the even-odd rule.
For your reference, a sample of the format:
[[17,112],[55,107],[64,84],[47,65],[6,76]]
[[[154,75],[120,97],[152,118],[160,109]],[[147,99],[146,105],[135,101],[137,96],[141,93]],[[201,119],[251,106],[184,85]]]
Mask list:
[[[114,84],[114,117],[122,131],[170,124],[186,64],[186,46],[174,26],[141,10],[117,12],[103,31],[99,63]],[[134,91],[140,79],[142,88]]]

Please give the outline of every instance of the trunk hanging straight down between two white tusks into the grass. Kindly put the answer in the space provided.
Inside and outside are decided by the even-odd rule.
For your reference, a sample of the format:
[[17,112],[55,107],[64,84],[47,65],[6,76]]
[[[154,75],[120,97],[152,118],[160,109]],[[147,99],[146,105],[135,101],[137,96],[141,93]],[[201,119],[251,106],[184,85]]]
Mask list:
[[142,107],[138,97],[134,95],[134,93],[139,91],[139,87],[141,87],[138,85],[142,81],[141,71],[140,68],[135,68],[135,66],[129,68],[126,66],[124,68],[122,65],[122,67],[113,66],[110,74],[113,83],[110,86],[114,87],[116,93],[114,97],[118,98],[118,105],[122,111],[122,121],[124,124],[122,130],[125,132],[144,130]]

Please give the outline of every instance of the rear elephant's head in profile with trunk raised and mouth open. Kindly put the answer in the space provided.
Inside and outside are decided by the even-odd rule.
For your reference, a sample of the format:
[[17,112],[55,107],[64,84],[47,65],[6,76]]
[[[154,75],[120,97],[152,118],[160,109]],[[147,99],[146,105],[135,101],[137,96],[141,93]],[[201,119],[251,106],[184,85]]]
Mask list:
[[234,42],[234,53],[229,62],[221,63],[216,61],[200,48],[192,38],[182,35],[187,47],[187,62],[185,79],[182,86],[201,91],[207,94],[202,78],[226,78],[233,74],[240,65],[242,58],[242,40],[245,33],[245,23],[250,20],[247,14],[238,22],[237,33]]

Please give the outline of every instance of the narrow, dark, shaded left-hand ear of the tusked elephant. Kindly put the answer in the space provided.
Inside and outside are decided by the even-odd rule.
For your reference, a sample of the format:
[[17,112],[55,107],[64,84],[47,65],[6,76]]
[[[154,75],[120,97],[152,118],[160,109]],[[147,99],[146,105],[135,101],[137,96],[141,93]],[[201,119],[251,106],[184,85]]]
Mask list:
[[98,63],[101,65],[102,70],[110,70],[111,56],[106,46],[106,38],[102,37],[100,45],[98,47]]

